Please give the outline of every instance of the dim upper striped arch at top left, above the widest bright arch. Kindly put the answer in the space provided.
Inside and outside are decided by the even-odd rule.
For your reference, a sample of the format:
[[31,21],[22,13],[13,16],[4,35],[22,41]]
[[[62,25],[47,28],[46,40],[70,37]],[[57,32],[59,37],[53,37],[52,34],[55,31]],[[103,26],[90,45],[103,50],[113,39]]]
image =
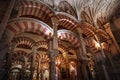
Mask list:
[[45,19],[45,14],[47,14],[49,17],[55,16],[54,11],[41,1],[21,0],[19,7],[19,16],[34,15]]

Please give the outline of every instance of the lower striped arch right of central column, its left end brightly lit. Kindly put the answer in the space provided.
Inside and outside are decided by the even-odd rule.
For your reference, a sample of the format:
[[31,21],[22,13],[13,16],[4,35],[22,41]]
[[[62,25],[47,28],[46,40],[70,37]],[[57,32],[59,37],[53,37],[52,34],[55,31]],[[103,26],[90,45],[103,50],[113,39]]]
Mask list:
[[58,37],[61,40],[67,40],[76,47],[80,46],[80,40],[76,34],[69,30],[58,30]]

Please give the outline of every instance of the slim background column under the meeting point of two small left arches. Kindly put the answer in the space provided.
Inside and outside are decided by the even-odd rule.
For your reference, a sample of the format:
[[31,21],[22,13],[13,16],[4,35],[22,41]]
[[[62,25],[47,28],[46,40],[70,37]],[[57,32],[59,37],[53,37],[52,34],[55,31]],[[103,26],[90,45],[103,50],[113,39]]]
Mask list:
[[31,75],[30,75],[30,80],[33,80],[33,75],[35,71],[35,59],[36,59],[36,54],[37,54],[37,47],[33,47],[33,58],[32,58],[32,63],[31,63]]

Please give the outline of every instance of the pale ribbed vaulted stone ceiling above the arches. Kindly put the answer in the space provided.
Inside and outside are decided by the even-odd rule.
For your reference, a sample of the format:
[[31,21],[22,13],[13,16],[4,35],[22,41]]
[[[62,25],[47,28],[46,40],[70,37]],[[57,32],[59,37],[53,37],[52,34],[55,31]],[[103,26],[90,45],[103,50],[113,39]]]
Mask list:
[[101,25],[111,19],[120,5],[120,0],[41,0],[56,7],[57,11],[67,12],[78,20],[93,25]]

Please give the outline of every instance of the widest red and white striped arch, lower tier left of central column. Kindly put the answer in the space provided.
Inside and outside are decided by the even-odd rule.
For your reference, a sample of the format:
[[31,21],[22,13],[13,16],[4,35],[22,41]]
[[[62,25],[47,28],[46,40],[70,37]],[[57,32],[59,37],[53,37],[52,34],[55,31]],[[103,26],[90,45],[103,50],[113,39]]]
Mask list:
[[8,22],[7,31],[16,35],[21,32],[35,32],[47,37],[53,30],[44,22],[32,18],[15,18]]

